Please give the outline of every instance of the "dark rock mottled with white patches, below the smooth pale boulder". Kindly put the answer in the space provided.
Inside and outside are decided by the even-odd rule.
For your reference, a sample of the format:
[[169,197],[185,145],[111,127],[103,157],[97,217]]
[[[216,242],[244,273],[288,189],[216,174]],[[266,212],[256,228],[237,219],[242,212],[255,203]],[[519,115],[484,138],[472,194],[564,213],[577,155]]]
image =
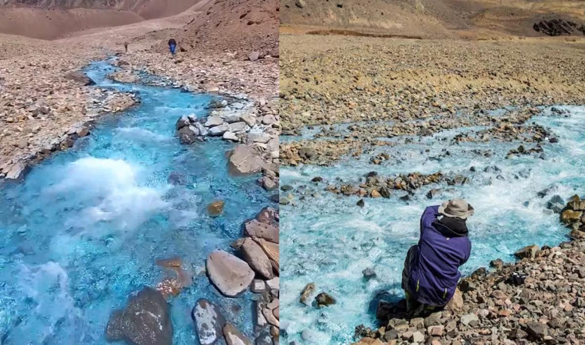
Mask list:
[[201,345],[215,344],[221,338],[225,326],[225,318],[219,308],[207,299],[199,299],[191,316],[195,321],[197,336]]

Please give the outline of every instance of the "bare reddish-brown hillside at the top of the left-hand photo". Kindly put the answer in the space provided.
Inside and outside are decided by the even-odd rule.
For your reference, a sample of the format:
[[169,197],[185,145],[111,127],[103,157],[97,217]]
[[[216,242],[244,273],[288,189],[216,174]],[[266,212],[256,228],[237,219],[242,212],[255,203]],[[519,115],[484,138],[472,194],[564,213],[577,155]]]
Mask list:
[[199,0],[2,0],[0,33],[57,39],[181,13]]

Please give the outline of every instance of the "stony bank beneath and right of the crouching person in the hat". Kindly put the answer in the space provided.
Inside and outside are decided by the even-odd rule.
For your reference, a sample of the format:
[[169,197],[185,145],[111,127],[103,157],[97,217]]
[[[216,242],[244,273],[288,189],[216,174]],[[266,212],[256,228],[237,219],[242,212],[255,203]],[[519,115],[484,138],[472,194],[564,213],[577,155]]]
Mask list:
[[[562,200],[553,199],[549,205]],[[584,210],[579,196],[557,210],[572,241],[529,245],[511,264],[491,261],[491,269],[477,269],[460,281],[442,312],[408,319],[404,305],[380,302],[380,327],[357,326],[361,339],[354,344],[585,343]]]

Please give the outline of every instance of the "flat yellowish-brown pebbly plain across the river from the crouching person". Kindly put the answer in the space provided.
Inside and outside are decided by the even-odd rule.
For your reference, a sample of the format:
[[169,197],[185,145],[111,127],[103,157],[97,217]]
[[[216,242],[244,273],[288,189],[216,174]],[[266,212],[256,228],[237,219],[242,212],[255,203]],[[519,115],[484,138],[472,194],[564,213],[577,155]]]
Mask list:
[[[524,122],[522,114],[536,105],[585,104],[585,40],[281,35],[281,47],[283,134],[298,134],[306,125],[374,122],[328,141],[281,144],[286,165],[327,164],[384,145],[372,142],[377,136],[428,134],[462,121],[493,126],[491,138]],[[508,124],[480,111],[509,105],[518,108]],[[384,120],[394,123],[376,124]]]

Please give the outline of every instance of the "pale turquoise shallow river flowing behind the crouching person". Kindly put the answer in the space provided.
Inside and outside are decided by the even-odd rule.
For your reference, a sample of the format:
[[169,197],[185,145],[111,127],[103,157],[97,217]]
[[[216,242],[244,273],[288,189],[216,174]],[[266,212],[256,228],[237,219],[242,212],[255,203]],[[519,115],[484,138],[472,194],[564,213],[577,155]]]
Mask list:
[[[505,159],[518,142],[457,145],[442,140],[480,129],[460,128],[420,141],[414,138],[410,144],[404,144],[402,138],[400,145],[378,148],[372,155],[391,155],[382,165],[371,165],[369,156],[363,156],[329,168],[281,168],[281,185],[307,190],[304,199],[297,197],[297,206],[281,208],[280,311],[281,334],[285,333],[281,342],[346,344],[352,342],[358,324],[375,326],[377,296],[404,296],[400,289],[404,257],[418,241],[419,219],[425,206],[464,197],[475,208],[475,215],[468,221],[472,255],[462,267],[464,274],[486,267],[491,259],[513,261],[511,254],[525,245],[553,245],[567,240],[567,230],[559,224],[558,215],[545,209],[546,201],[555,193],[565,199],[585,194],[585,107],[565,109],[570,110],[570,117],[553,116],[545,110],[534,118],[559,139],[557,144],[544,145],[545,159],[539,155]],[[473,150],[493,155],[486,157]],[[476,172],[470,172],[472,166]],[[501,171],[484,172],[488,166]],[[405,192],[394,192],[390,199],[365,199],[363,208],[356,206],[359,197],[336,196],[323,190],[336,179],[355,182],[372,170],[380,175],[463,173],[471,182],[463,186],[425,186],[408,203],[399,200]],[[315,176],[324,177],[326,182],[315,185],[311,182]],[[552,185],[558,186],[555,192],[542,199],[537,196]],[[425,194],[436,187],[450,190],[435,200],[427,199]],[[314,190],[318,197],[308,195]],[[363,279],[366,267],[374,268],[376,279]],[[328,292],[338,303],[324,309],[299,303],[300,292],[309,282],[316,283],[316,292]],[[301,339],[304,331],[305,340]]]

